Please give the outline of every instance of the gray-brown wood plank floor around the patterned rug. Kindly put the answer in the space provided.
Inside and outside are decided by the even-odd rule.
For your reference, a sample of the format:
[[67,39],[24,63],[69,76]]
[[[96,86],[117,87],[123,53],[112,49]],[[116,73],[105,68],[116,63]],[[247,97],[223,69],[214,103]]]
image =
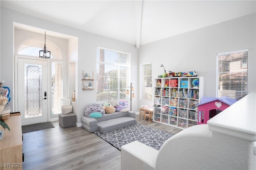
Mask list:
[[[172,134],[181,131],[160,123],[149,123],[136,115],[137,123]],[[120,170],[120,150],[82,127],[55,128],[23,134],[23,170]]]

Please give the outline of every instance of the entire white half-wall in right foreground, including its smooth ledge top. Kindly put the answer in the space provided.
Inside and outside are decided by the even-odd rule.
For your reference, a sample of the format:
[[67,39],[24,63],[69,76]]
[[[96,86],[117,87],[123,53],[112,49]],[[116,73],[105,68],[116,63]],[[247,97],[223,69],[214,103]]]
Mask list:
[[205,125],[186,128],[155,150],[138,141],[121,147],[122,170],[256,169],[256,93]]

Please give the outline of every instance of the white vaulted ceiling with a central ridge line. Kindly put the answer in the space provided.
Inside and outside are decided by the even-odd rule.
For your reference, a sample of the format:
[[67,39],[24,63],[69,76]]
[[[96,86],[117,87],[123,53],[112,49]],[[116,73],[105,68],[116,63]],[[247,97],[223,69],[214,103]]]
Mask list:
[[1,6],[136,47],[256,12],[255,0],[1,0]]

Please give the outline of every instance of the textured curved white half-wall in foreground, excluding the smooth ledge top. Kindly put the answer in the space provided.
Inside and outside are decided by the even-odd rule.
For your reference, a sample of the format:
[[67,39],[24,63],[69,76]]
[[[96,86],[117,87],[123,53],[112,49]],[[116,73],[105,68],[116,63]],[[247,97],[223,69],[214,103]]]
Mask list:
[[254,142],[196,125],[166,140],[160,150],[138,141],[121,147],[122,170],[253,169]]

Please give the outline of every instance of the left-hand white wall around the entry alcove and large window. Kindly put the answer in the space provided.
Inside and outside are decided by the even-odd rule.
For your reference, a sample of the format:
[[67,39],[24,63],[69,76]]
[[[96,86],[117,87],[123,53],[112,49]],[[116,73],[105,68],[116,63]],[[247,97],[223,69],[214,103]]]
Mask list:
[[[96,47],[105,47],[115,49],[118,51],[124,51],[131,53],[131,81],[134,86],[138,85],[138,49],[134,45],[130,45],[124,42],[91,34],[82,30],[63,26],[33,16],[28,16],[20,12],[10,10],[8,8],[1,7],[1,79],[5,80],[5,86],[14,89],[14,22],[50,30],[52,32],[58,32],[78,38],[78,59],[76,62],[76,105],[77,105],[77,123],[81,123],[81,117],[84,114],[84,107],[89,103],[96,102],[96,91],[83,91],[82,90],[82,70],[86,72],[94,71],[94,77],[96,76]],[[138,89],[138,88],[136,88]],[[73,89],[72,89],[73,91]],[[136,91],[134,93],[137,93]],[[138,94],[138,93],[137,93]],[[14,93],[11,97],[14,99]],[[137,97],[133,99],[133,108],[138,108]],[[10,103],[11,111],[14,110],[14,103]]]

